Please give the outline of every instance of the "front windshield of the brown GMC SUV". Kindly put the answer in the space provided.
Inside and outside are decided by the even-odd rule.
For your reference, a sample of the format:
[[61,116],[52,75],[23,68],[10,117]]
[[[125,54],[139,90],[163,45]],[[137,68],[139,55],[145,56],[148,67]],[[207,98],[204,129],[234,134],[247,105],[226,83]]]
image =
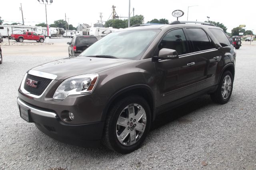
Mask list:
[[112,56],[118,59],[137,60],[142,57],[159,32],[159,29],[113,32],[94,43],[79,56]]

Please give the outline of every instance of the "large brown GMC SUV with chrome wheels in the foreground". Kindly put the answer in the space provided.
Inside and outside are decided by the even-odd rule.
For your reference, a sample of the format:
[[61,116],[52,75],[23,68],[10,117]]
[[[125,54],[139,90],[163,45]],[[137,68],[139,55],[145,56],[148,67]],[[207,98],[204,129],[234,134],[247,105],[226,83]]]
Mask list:
[[20,116],[54,139],[128,153],[156,115],[203,94],[228,102],[234,47],[212,23],[184,23],[122,29],[78,57],[32,68],[19,88]]

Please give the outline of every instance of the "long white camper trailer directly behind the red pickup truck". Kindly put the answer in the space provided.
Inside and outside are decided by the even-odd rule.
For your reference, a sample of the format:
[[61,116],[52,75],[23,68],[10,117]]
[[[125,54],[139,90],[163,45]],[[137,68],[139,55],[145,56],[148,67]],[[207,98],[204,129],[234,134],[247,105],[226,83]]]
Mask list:
[[10,36],[11,34],[21,34],[23,32],[35,32],[40,35],[42,34],[42,27],[26,25],[0,25],[0,33],[2,34],[3,38],[8,37],[8,33]]

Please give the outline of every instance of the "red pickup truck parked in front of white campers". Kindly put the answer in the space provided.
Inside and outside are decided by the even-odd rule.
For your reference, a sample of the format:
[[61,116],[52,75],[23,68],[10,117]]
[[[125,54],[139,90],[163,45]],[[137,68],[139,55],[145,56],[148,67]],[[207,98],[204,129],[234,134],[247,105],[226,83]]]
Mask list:
[[23,34],[12,34],[12,39],[15,39],[17,42],[23,42],[23,40],[36,40],[36,42],[43,43],[44,42],[44,36],[38,35],[34,32],[24,32]]

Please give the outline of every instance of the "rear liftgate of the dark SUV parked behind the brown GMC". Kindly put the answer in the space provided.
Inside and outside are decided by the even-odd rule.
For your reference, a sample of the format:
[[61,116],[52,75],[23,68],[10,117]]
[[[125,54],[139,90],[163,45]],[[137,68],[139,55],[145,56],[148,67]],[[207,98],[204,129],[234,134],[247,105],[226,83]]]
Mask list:
[[95,43],[97,40],[96,37],[90,37],[90,36],[78,36],[76,39],[76,51],[77,53],[82,53],[85,49],[90,47],[93,43]]

